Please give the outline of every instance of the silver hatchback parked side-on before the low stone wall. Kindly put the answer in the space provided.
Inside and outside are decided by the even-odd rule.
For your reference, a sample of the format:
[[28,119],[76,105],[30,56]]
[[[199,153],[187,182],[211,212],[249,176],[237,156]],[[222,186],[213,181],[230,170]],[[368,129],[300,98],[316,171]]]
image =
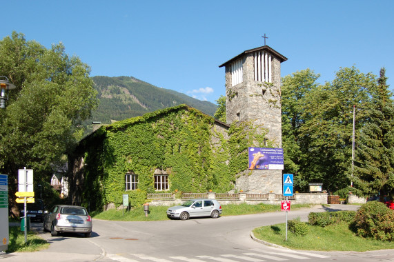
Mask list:
[[190,199],[182,205],[168,208],[170,219],[186,220],[190,217],[210,216],[217,219],[221,214],[221,205],[215,199]]

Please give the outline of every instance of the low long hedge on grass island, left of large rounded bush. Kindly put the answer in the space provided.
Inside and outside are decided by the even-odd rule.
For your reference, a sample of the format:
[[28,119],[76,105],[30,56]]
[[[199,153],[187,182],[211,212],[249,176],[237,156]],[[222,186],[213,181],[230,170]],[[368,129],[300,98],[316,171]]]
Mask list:
[[351,223],[355,219],[355,214],[355,211],[311,212],[308,214],[308,222],[311,225],[318,225],[324,228],[333,223]]

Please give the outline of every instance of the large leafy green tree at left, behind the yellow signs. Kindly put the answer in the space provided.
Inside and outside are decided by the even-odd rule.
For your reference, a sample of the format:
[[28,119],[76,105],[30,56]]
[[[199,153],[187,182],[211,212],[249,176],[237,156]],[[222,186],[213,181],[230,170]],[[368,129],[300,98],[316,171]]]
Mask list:
[[26,167],[35,179],[49,176],[97,106],[90,68],[62,43],[47,49],[17,32],[0,41],[0,57],[0,75],[17,87],[1,112],[0,172],[14,177]]

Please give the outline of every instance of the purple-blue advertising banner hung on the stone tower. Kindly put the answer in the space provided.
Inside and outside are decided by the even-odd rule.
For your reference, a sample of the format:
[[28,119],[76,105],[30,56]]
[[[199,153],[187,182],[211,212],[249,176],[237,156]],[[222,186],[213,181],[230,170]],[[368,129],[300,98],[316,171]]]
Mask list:
[[248,148],[249,170],[283,170],[283,148]]

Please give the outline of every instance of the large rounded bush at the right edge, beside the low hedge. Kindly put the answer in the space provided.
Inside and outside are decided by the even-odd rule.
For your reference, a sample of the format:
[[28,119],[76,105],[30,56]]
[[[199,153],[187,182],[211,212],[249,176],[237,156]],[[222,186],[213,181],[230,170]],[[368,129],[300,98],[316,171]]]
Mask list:
[[353,223],[357,235],[380,241],[394,240],[394,210],[382,202],[371,201],[357,211]]

